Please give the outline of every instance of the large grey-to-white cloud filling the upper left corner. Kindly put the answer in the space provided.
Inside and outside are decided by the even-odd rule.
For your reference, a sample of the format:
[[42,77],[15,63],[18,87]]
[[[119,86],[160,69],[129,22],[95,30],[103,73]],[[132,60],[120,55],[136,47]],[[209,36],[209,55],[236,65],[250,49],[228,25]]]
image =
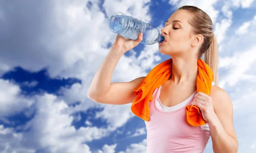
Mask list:
[[[47,67],[51,77],[67,77],[70,74],[79,77],[84,69],[90,68],[87,62],[91,62],[90,57],[96,55],[94,52],[97,51],[99,56],[104,55],[106,51],[102,50],[101,45],[114,37],[108,30],[108,19],[97,5],[94,4],[91,11],[84,12],[84,0],[72,3],[68,0],[51,3],[30,0],[28,3],[13,5],[8,2],[5,5],[12,6],[15,11],[9,10],[9,7],[2,9],[6,18],[0,37],[3,40],[8,37],[9,42],[16,45],[8,42],[1,44],[2,50],[5,50],[0,52],[1,63],[5,64],[3,69],[19,65],[38,71]],[[16,19],[20,19],[22,24],[14,24]],[[21,28],[19,37],[14,35],[15,29]]]

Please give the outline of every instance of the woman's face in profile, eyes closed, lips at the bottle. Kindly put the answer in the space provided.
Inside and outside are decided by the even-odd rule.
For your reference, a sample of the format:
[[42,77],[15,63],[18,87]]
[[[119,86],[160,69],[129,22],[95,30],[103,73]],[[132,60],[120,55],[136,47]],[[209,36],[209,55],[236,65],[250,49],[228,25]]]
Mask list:
[[188,53],[192,48],[192,26],[189,20],[192,14],[186,10],[177,10],[166,21],[165,27],[161,29],[161,34],[166,42],[159,44],[159,51],[170,56]]

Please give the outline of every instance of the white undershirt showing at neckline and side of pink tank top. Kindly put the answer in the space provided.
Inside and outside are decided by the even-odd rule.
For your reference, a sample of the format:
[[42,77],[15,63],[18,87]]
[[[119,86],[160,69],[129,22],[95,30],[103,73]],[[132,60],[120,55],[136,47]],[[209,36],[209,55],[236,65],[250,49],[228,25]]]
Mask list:
[[[212,86],[215,85],[214,82],[212,82]],[[161,111],[176,111],[184,106],[187,105],[187,103],[193,98],[193,96],[195,96],[196,94],[196,91],[191,95],[189,96],[189,98],[187,98],[186,100],[184,100],[183,102],[177,104],[177,105],[174,105],[174,106],[171,106],[171,107],[167,107],[167,106],[164,106],[161,102],[160,102],[160,99],[159,99],[159,96],[157,97],[158,100],[156,101],[156,106],[158,109],[160,109]],[[159,94],[160,95],[160,90],[159,90]],[[202,130],[204,130],[205,132],[207,133],[210,133],[210,129],[209,129],[209,125],[206,123],[205,125],[201,125],[201,128]]]

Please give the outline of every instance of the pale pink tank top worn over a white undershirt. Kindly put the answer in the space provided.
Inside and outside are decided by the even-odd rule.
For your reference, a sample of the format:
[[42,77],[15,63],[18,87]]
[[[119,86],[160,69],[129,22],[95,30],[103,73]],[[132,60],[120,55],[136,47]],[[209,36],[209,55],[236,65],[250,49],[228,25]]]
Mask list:
[[[153,93],[149,102],[150,120],[147,129],[146,153],[202,153],[210,133],[201,126],[191,126],[186,120],[186,105],[175,111],[161,111],[157,108],[160,88]],[[191,105],[194,96],[187,105]]]

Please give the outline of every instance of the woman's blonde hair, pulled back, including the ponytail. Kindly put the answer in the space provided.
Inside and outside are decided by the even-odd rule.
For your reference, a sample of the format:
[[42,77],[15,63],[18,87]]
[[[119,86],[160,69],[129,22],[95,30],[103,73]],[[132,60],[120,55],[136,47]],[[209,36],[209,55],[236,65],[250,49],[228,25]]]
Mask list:
[[207,13],[196,6],[182,6],[178,10],[187,10],[194,15],[189,23],[195,34],[202,34],[204,39],[198,52],[198,58],[204,55],[204,62],[212,69],[216,85],[218,85],[218,43],[213,34],[212,20]]

